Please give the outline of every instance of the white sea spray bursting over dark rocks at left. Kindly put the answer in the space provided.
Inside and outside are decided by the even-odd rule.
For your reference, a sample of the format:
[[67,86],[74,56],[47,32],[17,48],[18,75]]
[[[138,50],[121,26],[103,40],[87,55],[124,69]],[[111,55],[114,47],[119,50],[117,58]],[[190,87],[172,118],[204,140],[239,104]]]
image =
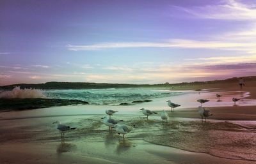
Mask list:
[[40,89],[20,89],[18,86],[12,91],[3,91],[0,93],[0,98],[46,98],[46,96]]

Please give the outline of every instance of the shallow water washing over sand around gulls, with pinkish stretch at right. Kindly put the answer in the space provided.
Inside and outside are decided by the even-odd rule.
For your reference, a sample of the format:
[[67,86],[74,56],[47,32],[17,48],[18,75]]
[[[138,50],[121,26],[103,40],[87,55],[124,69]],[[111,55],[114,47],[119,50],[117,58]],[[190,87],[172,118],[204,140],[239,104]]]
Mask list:
[[[204,107],[232,106],[230,99],[233,96],[246,97],[247,94],[230,92],[221,98],[223,101],[216,101],[215,93],[189,91],[131,106],[78,105],[1,112],[0,143],[35,143],[36,149],[40,149],[41,144],[50,144],[60,158],[67,153],[116,163],[255,163],[256,121],[211,120],[202,123],[200,119],[172,118],[168,123],[162,123],[159,116],[150,116],[147,121],[140,112],[141,107],[168,109],[166,99],[182,105],[175,110],[198,107],[198,98],[210,100]],[[241,102],[238,105],[253,105],[255,100]],[[101,123],[106,109],[119,110],[114,119],[124,119],[124,124],[136,125],[125,135],[125,140]],[[52,124],[56,120],[77,127],[65,134],[64,143]]]

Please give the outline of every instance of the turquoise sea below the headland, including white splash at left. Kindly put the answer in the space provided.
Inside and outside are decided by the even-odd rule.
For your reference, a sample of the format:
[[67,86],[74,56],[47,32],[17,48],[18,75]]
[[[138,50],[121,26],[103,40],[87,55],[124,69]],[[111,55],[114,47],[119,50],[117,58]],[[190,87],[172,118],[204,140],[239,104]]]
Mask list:
[[20,89],[0,91],[0,98],[48,98],[87,101],[91,105],[118,105],[186,94],[181,91],[152,88],[109,89]]

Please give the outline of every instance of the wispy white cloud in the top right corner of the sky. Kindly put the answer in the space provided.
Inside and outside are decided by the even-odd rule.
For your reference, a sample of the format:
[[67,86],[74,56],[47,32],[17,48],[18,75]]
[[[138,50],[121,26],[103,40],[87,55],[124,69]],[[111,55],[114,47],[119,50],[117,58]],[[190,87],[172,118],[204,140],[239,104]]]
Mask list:
[[200,19],[220,19],[220,20],[256,20],[255,3],[246,5],[235,0],[227,0],[224,4],[214,4],[207,6],[195,6],[183,8],[172,6],[178,10],[189,13]]

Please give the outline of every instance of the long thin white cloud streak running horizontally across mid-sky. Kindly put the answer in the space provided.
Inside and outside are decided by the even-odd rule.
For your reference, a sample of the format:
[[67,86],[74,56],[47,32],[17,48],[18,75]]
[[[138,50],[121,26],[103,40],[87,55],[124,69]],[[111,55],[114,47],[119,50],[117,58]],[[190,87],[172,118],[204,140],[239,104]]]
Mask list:
[[222,50],[242,50],[252,52],[256,47],[256,41],[198,41],[198,40],[168,40],[162,43],[150,42],[126,42],[126,43],[99,43],[94,45],[68,45],[69,50],[101,50],[106,48],[143,48],[143,47],[165,47],[165,48],[205,48]]

